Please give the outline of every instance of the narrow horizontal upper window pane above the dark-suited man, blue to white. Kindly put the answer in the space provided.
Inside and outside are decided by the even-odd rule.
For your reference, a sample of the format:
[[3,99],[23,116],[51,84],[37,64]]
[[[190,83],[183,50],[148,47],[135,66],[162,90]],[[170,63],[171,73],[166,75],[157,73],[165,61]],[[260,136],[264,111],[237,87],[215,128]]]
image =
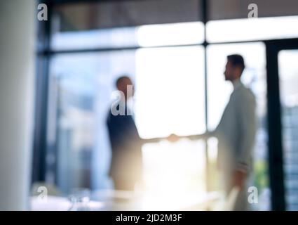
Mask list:
[[201,44],[203,39],[203,23],[191,22],[76,32],[54,32],[51,45],[55,50],[107,49],[131,46]]

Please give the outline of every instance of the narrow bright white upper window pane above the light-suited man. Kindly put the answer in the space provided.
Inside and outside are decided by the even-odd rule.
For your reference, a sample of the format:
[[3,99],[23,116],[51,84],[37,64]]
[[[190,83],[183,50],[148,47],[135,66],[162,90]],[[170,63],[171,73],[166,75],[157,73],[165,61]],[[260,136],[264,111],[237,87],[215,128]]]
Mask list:
[[298,37],[298,16],[215,20],[207,23],[209,42]]

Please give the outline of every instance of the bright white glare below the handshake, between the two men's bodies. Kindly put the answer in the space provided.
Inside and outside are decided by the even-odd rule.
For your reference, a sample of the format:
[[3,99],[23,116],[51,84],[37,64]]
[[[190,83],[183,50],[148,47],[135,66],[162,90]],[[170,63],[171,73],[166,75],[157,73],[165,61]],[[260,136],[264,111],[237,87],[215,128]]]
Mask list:
[[203,141],[184,139],[178,143],[147,144],[143,155],[145,208],[177,210],[205,194]]

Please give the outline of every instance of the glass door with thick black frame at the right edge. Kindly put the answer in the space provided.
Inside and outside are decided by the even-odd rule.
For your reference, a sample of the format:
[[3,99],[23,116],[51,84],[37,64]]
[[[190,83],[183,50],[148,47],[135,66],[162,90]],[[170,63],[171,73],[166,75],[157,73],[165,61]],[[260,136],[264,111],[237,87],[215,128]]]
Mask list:
[[298,39],[266,50],[272,209],[298,210]]

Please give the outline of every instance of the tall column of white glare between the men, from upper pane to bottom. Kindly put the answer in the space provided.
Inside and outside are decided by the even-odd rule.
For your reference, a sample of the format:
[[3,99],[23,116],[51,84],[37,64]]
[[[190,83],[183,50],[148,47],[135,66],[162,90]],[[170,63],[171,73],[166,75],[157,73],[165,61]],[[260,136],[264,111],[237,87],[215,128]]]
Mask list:
[[[144,26],[139,30],[138,40],[142,46],[198,41],[198,35],[184,32],[191,26]],[[175,35],[177,31],[182,33],[181,36]],[[187,41],[185,35],[189,35]],[[135,58],[135,121],[140,135],[151,138],[172,133],[203,133],[203,47],[140,49]],[[143,207],[151,210],[177,210],[201,198],[205,193],[204,149],[201,141],[189,140],[145,145],[143,161],[146,194]]]

